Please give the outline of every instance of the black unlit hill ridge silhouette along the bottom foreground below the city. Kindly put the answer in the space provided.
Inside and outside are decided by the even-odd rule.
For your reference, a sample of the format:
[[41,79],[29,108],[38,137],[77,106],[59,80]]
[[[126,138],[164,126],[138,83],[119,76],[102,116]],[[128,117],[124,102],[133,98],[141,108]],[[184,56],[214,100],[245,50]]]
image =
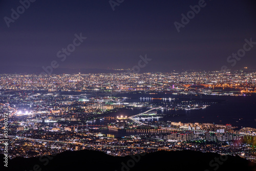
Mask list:
[[[4,155],[0,155],[3,159]],[[3,160],[2,160],[3,161]],[[221,157],[215,153],[195,151],[159,151],[126,157],[114,157],[103,152],[82,150],[63,152],[55,156],[17,157],[2,162],[0,170],[256,170],[252,163],[239,156]]]

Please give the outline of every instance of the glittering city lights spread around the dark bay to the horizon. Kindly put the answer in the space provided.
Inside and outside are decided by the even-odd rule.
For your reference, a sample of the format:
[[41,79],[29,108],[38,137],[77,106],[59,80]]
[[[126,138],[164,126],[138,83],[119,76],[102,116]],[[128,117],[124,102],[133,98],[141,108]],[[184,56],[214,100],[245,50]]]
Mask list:
[[[255,161],[256,127],[169,116],[221,105],[208,96],[255,96],[256,72],[3,74],[0,87],[2,130],[6,113],[9,122],[1,136],[9,140],[10,158],[81,149],[113,156],[190,149]],[[123,110],[134,112],[119,114]]]

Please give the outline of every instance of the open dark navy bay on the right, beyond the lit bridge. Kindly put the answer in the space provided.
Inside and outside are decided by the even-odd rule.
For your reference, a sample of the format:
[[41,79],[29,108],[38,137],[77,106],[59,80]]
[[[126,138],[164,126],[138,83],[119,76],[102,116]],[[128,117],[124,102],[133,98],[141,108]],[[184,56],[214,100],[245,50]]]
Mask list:
[[[135,96],[135,95],[132,95]],[[167,98],[167,100],[140,100],[140,97]],[[256,128],[256,96],[206,96],[200,98],[195,95],[174,96],[166,94],[158,94],[154,96],[137,95],[127,99],[133,102],[153,102],[161,105],[163,102],[169,102],[168,98],[175,98],[171,102],[181,103],[182,101],[190,101],[196,104],[206,104],[206,109],[190,110],[190,111],[158,111],[158,113],[167,114],[168,117],[159,120],[170,120],[175,122],[200,122],[200,123],[216,123],[216,124],[232,124],[242,127]],[[183,103],[184,104],[184,103]],[[189,102],[188,102],[189,104]],[[161,105],[163,106],[163,105]],[[134,114],[137,114],[135,110]]]

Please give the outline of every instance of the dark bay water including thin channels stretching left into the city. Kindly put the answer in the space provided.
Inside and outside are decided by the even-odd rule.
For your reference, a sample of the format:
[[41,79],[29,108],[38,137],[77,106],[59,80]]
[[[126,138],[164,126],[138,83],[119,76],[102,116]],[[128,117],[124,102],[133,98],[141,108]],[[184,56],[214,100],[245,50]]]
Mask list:
[[[48,93],[47,91],[19,91],[30,93]],[[50,92],[52,93],[52,92]],[[232,124],[239,127],[254,127],[256,128],[256,95],[252,96],[210,96],[210,95],[171,95],[165,93],[157,94],[139,94],[139,93],[122,93],[122,94],[105,94],[102,92],[57,92],[66,95],[89,94],[88,98],[95,96],[114,96],[114,97],[129,97],[127,102],[150,102],[154,105],[166,106],[169,102],[182,103],[189,101],[187,104],[206,104],[206,109],[190,110],[190,111],[166,111],[159,110],[158,113],[166,114],[164,118],[159,120],[170,120],[175,122],[200,122],[200,123],[216,123],[216,124]],[[140,99],[142,97],[142,99]],[[144,98],[167,98],[166,100],[159,99],[144,99]],[[79,98],[79,97],[77,97]],[[169,101],[168,98],[175,98]],[[73,100],[75,100],[74,98]],[[184,103],[183,103],[184,104]],[[106,116],[132,116],[145,112],[148,109],[127,110],[122,109],[116,113],[110,113]]]

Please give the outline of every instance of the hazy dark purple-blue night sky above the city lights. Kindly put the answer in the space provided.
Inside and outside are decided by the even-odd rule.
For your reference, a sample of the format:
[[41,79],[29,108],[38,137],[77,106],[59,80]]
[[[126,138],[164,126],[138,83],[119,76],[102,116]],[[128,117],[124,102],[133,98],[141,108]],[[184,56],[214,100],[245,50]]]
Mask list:
[[[124,0],[113,11],[109,0],[36,0],[8,28],[4,17],[11,18],[11,9],[17,11],[21,4],[3,0],[0,67],[42,71],[56,60],[59,69],[127,69],[147,54],[152,60],[142,72],[255,68],[256,45],[236,65],[227,62],[243,49],[245,39],[256,42],[255,1],[206,0],[178,32],[174,22],[181,23],[181,14],[198,4]],[[61,61],[57,52],[80,33],[87,39]]]

